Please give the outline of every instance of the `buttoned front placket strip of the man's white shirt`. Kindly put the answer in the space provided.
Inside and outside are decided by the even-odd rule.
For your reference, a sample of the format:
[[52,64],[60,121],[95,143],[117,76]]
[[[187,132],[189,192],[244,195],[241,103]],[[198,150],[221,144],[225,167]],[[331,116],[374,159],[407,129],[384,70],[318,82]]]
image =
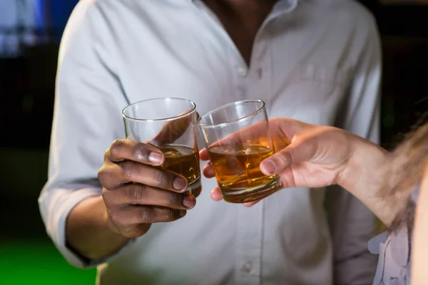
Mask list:
[[[197,3],[198,1],[195,1]],[[281,3],[282,2],[282,3]],[[297,0],[292,0],[296,2]],[[287,1],[280,1],[280,4],[289,7]],[[205,9],[205,6],[200,3],[200,7]],[[295,7],[292,7],[294,9]],[[292,9],[288,11],[292,11]],[[281,14],[285,14],[286,9],[280,7],[274,14],[268,17],[255,38],[253,46],[253,54],[250,59],[250,66],[245,63],[243,57],[238,51],[238,48],[233,43],[232,39],[224,32],[225,39],[229,43],[228,57],[232,63],[231,68],[232,78],[235,81],[235,94],[231,95],[231,100],[246,100],[246,99],[261,99],[267,101],[270,105],[271,86],[270,72],[271,61],[269,56],[268,41],[270,41],[270,33],[268,32],[268,24],[272,19],[277,18]],[[210,14],[213,18],[215,15]],[[220,23],[215,19],[216,24]],[[238,207],[237,217],[237,234],[235,239],[235,284],[237,285],[261,285],[262,281],[262,254],[263,254],[263,220],[264,220],[264,205],[263,201],[257,205],[245,208]]]

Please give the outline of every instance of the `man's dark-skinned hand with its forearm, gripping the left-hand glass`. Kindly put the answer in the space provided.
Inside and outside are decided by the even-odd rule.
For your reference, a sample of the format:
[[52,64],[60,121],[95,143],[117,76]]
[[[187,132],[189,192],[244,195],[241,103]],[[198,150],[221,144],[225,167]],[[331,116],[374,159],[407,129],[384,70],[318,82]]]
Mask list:
[[161,170],[168,145],[188,131],[192,118],[166,123],[147,143],[116,140],[98,171],[102,196],[84,199],[66,222],[68,247],[89,259],[118,252],[131,238],[146,234],[152,223],[173,222],[195,207],[182,175]]

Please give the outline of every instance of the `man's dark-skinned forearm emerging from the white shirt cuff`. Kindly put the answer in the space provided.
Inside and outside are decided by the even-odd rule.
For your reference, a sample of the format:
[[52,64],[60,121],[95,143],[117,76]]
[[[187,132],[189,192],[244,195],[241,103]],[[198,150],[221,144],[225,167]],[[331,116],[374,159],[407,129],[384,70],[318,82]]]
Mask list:
[[68,247],[88,259],[101,259],[118,252],[129,239],[108,227],[103,197],[90,197],[73,208],[66,222]]

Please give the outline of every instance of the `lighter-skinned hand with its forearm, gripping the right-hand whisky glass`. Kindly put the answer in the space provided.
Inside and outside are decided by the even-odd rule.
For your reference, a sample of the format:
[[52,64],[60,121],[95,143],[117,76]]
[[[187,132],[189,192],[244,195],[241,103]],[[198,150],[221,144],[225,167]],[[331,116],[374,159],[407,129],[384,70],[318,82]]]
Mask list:
[[[339,128],[310,125],[288,118],[273,119],[269,124],[277,153],[260,164],[265,175],[279,174],[284,188],[340,185],[366,204],[377,217],[389,222],[392,209],[379,195],[387,161],[386,150]],[[257,135],[258,125],[241,132]],[[248,137],[248,133],[245,136]],[[206,149],[200,152],[200,159],[209,159]],[[214,177],[209,163],[203,174]],[[211,197],[215,201],[223,199],[219,187],[215,187]]]

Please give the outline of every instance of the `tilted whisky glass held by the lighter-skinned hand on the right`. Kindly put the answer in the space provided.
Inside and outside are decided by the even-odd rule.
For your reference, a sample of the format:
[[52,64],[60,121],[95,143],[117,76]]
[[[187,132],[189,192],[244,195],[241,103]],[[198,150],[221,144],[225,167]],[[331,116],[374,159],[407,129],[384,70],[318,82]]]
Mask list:
[[275,153],[262,100],[223,105],[198,120],[223,199],[253,202],[280,189],[278,175],[264,175],[260,162]]

